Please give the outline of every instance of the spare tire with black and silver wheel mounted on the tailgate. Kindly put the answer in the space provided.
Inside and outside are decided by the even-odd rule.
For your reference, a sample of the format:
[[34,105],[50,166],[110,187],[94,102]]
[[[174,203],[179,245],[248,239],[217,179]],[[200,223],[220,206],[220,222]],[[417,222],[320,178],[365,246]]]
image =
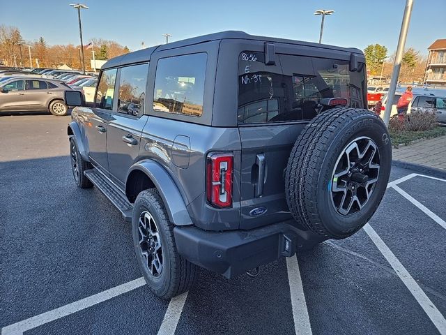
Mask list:
[[383,198],[392,145],[383,121],[361,109],[334,108],[300,133],[286,167],[286,201],[305,228],[342,239],[360,230]]

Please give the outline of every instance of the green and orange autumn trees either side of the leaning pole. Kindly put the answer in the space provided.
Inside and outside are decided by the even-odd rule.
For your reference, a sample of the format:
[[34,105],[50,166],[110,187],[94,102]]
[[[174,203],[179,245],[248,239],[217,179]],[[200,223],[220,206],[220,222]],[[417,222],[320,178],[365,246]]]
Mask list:
[[[395,54],[389,55],[387,47],[380,44],[371,44],[364,49],[369,77],[380,77],[383,80],[390,79],[393,70]],[[423,57],[419,51],[409,47],[404,51],[401,61],[399,81],[403,83],[423,83],[426,70],[427,57]]]

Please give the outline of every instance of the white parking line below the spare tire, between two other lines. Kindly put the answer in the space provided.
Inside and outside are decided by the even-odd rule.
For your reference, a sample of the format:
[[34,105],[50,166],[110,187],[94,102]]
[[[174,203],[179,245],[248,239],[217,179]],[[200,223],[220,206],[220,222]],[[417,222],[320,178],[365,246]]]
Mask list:
[[288,269],[295,334],[312,335],[312,325],[309,323],[307,302],[305,301],[302,278],[300,278],[298,258],[295,255],[286,258],[286,268]]

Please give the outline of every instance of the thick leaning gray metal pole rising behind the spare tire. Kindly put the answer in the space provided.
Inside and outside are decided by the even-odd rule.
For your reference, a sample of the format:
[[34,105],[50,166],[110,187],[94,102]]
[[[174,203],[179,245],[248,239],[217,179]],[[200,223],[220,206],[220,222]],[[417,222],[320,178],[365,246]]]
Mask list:
[[403,60],[404,45],[406,44],[407,32],[409,30],[410,15],[412,14],[413,0],[406,0],[406,8],[404,8],[403,22],[401,22],[401,30],[399,31],[399,40],[397,47],[397,54],[395,55],[395,61],[393,64],[392,79],[390,80],[388,103],[385,104],[384,123],[389,126],[390,112],[392,111],[392,100],[397,90],[397,82],[399,76],[399,70],[401,68],[401,61]]

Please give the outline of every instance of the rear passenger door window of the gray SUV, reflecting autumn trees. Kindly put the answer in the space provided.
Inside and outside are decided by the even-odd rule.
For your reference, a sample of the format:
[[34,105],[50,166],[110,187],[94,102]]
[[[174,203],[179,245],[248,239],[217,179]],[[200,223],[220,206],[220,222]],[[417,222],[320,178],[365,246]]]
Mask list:
[[121,68],[118,112],[137,117],[144,113],[148,64]]

